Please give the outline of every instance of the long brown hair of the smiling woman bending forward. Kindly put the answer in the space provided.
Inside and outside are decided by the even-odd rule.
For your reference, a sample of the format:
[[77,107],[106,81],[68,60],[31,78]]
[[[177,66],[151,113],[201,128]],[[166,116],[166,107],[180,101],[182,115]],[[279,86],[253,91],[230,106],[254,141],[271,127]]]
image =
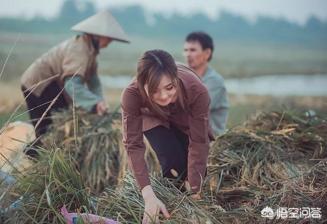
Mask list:
[[[139,90],[143,97],[147,99],[150,107],[162,118],[168,120],[169,114],[164,107],[155,103],[153,94],[157,89],[162,76],[167,75],[176,88],[177,101],[181,107],[185,109],[184,97],[178,85],[178,72],[176,62],[168,52],[161,49],[146,51],[138,60],[136,69],[136,80]],[[144,85],[148,85],[148,94],[144,89]]]

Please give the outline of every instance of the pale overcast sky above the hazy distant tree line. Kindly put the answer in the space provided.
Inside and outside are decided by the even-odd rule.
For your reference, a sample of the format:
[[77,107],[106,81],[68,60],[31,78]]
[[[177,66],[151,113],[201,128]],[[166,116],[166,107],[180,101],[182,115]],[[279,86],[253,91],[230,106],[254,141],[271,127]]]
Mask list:
[[[55,17],[64,0],[0,0],[0,17],[31,18],[35,15],[47,18]],[[80,1],[80,0],[79,0]],[[172,12],[192,15],[203,12],[215,19],[221,10],[245,16],[255,21],[258,15],[285,18],[299,24],[305,24],[311,15],[327,20],[326,0],[92,0],[97,10],[110,7],[141,5],[151,16],[161,12],[169,16]]]

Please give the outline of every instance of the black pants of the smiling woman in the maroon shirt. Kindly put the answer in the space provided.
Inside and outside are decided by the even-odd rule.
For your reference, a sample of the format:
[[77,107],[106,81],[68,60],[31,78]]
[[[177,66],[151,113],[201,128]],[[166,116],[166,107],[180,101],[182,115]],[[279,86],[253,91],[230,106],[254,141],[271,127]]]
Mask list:
[[170,123],[170,129],[158,126],[144,132],[155,151],[164,177],[176,179],[174,169],[181,181],[188,175],[189,136]]

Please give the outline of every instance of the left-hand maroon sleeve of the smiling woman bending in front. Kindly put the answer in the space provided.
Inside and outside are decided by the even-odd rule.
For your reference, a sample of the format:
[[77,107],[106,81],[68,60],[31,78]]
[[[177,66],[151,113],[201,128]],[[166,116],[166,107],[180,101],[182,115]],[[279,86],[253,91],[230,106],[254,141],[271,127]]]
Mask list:
[[139,95],[126,88],[121,99],[123,144],[139,189],[150,185],[149,170],[144,159],[146,147],[143,142],[141,106]]

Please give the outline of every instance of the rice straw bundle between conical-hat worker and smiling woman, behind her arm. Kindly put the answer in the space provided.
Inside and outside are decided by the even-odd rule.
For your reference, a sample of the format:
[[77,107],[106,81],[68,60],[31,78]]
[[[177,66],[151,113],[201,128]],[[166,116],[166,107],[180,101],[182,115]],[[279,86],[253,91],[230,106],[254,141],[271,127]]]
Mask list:
[[[61,110],[53,114],[53,124],[42,138],[44,147],[55,142],[74,155],[85,184],[92,192],[101,192],[109,186],[114,188],[129,168],[118,109],[104,116],[83,110],[74,110],[74,113],[71,109]],[[147,141],[145,143],[149,171],[159,171],[155,152]]]

